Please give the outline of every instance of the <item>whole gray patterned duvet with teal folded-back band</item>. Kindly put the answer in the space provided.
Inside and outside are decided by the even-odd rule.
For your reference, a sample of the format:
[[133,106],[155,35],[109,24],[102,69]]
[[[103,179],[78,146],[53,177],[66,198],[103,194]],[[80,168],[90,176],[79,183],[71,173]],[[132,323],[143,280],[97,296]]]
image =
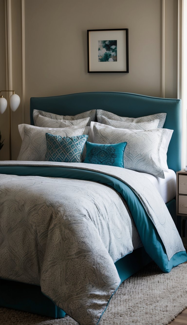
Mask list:
[[121,257],[143,245],[164,272],[187,260],[160,194],[135,171],[0,162],[0,193],[0,278],[40,285],[81,325],[99,322]]

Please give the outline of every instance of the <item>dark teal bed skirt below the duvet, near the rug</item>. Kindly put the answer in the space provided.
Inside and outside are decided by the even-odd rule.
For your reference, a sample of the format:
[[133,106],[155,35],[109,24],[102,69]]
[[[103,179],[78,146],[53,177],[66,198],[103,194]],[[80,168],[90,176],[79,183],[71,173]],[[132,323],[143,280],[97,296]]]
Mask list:
[[[143,247],[120,258],[116,263],[121,283],[151,262]],[[64,317],[66,313],[46,297],[41,287],[17,281],[0,279],[0,306],[27,311],[53,318]]]

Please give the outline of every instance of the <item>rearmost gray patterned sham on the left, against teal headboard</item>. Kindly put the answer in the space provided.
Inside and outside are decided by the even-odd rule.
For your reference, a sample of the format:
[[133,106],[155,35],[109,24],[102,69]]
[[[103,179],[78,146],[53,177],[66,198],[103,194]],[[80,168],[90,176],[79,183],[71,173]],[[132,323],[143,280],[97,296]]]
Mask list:
[[96,110],[88,110],[86,112],[82,112],[77,115],[58,115],[54,113],[44,112],[43,110],[33,110],[34,124],[36,123],[36,118],[38,114],[53,120],[68,120],[68,121],[80,120],[89,117],[89,122],[87,123],[87,126],[90,126],[90,123],[92,121],[95,121]]

